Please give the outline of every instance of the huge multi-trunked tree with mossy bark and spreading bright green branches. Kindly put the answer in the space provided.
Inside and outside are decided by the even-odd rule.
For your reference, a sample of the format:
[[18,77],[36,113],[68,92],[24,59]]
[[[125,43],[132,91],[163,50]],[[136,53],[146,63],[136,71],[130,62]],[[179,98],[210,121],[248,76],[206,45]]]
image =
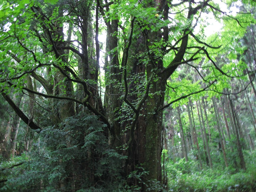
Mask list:
[[[110,146],[127,156],[124,176],[145,174],[142,180],[129,177],[130,185],[143,183],[142,190],[157,190],[157,182],[151,188],[150,181],[162,180],[163,110],[210,89],[220,75],[232,76],[209,54],[221,46],[205,40],[208,15],[234,22],[241,31],[249,22],[247,18],[244,23],[241,15],[238,19],[229,16],[211,0],[23,0],[2,4],[0,91],[5,100],[38,133],[44,125],[36,122],[40,118],[35,119],[33,106],[45,109],[51,115],[47,118],[58,126],[79,112],[99,116],[107,125],[104,135]],[[100,59],[100,30],[107,36],[105,59]],[[192,92],[164,102],[166,85],[178,66],[201,58],[213,71],[211,78]],[[105,76],[99,80],[100,60],[105,60]],[[201,70],[190,66],[198,73]],[[102,81],[104,103],[98,89]],[[15,105],[13,92],[28,94],[30,109],[22,111]]]

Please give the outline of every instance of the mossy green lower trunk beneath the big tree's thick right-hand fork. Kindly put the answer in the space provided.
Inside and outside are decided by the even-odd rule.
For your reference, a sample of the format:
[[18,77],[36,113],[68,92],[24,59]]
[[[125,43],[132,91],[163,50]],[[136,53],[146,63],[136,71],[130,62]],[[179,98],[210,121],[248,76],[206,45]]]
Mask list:
[[[157,95],[158,92],[160,95]],[[164,104],[165,82],[162,80],[153,83],[150,92],[155,96],[148,97],[147,101],[147,122],[146,122],[146,145],[145,161],[146,171],[149,171],[147,180],[161,181],[161,153],[162,153],[162,132],[163,112],[158,111]]]

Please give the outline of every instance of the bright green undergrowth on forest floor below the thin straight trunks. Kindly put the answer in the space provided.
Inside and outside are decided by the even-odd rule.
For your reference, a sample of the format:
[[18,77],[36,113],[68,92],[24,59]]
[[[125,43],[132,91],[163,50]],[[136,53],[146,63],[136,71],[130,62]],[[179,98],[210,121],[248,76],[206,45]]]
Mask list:
[[[255,159],[255,152],[250,153],[250,158]],[[197,192],[229,192],[256,190],[256,165],[254,160],[248,159],[247,171],[234,173],[232,167],[206,168],[199,170],[196,160],[181,159],[177,163],[168,162],[170,191],[197,191]]]

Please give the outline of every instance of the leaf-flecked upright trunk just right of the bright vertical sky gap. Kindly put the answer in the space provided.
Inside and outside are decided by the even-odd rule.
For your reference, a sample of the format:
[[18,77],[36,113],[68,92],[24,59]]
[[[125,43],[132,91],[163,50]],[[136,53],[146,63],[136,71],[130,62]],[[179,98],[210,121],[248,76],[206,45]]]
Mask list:
[[118,51],[116,49],[118,47],[118,38],[115,34],[118,34],[117,20],[113,20],[111,24],[109,22],[107,26],[106,52],[116,51],[106,55],[105,59],[105,82],[108,83],[106,84],[104,106],[108,121],[111,123],[110,143],[114,147],[119,148],[121,146],[121,140],[118,138],[121,133],[120,120],[118,120],[121,107],[119,84],[121,83],[122,76],[119,68]]

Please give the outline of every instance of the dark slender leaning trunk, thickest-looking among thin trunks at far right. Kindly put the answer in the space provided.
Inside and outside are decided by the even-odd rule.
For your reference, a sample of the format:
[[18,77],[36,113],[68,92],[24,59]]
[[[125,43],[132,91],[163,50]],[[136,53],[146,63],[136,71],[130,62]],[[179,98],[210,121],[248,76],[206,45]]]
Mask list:
[[228,100],[230,102],[231,113],[232,113],[232,117],[234,119],[234,125],[235,125],[234,131],[235,131],[235,134],[236,134],[236,146],[237,146],[238,156],[239,156],[239,159],[240,159],[240,167],[241,167],[241,169],[246,170],[245,161],[244,161],[244,155],[243,155],[243,151],[242,151],[242,146],[241,146],[240,139],[239,139],[238,122],[236,121],[235,111],[234,111],[234,107],[233,107],[233,102],[230,99],[229,95],[228,95]]

